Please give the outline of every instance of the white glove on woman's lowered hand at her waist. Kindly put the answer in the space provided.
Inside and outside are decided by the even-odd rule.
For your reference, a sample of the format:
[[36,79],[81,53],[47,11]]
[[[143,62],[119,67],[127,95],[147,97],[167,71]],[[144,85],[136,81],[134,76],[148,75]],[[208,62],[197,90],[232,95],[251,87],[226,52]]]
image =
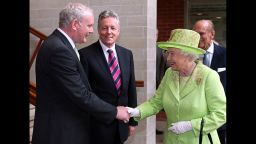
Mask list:
[[172,123],[171,127],[169,127],[168,130],[174,132],[175,134],[181,134],[192,130],[192,124],[190,121],[180,121]]

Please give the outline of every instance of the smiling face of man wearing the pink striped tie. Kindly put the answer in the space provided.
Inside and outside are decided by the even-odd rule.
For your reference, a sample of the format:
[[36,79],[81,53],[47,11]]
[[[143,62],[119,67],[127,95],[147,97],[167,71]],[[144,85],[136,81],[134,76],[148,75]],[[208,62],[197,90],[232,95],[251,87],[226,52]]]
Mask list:
[[99,38],[107,47],[113,46],[118,39],[119,33],[120,26],[116,18],[106,17],[99,22]]

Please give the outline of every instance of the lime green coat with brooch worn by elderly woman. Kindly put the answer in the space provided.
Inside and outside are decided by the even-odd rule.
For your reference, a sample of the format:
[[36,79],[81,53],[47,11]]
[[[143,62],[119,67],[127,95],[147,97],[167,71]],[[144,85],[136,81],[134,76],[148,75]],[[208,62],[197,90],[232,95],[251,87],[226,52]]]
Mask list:
[[[142,120],[164,109],[167,126],[164,144],[198,144],[201,119],[204,118],[203,144],[210,144],[207,137],[211,133],[214,144],[220,144],[217,128],[226,122],[226,96],[216,71],[197,62],[190,79],[179,90],[177,71],[169,68],[156,90],[155,95],[138,106]],[[193,130],[176,135],[167,130],[171,123],[191,121]]]

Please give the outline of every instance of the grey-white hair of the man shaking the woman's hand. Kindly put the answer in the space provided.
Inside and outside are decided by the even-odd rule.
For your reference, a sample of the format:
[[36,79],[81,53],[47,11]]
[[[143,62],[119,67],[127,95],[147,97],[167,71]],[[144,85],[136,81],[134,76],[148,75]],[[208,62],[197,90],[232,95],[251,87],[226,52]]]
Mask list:
[[67,6],[59,14],[59,27],[65,28],[74,19],[82,21],[83,16],[93,13],[92,9],[81,3],[68,3]]

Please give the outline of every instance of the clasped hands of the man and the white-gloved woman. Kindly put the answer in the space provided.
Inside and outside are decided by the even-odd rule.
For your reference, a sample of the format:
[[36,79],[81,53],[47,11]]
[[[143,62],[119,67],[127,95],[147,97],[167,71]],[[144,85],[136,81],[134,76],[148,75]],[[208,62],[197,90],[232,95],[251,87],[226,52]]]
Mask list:
[[139,117],[140,111],[137,108],[117,106],[116,118],[128,123],[130,117]]

